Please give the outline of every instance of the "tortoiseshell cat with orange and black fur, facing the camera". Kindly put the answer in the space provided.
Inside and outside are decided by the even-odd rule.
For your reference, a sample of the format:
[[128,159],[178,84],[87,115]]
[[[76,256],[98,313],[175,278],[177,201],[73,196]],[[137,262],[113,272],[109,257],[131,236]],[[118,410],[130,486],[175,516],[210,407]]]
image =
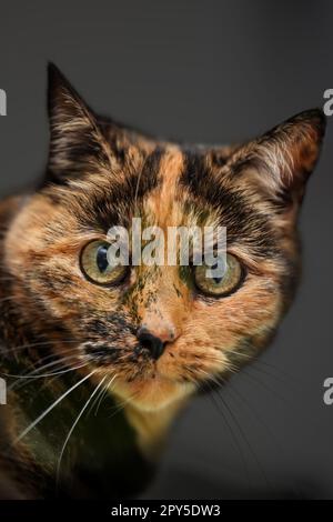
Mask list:
[[[0,203],[0,494],[129,498],[190,398],[259,355],[289,309],[325,118],[236,145],[155,141],[95,116],[53,64],[49,117],[46,175]],[[114,269],[108,230],[133,217],[225,227],[225,274]]]

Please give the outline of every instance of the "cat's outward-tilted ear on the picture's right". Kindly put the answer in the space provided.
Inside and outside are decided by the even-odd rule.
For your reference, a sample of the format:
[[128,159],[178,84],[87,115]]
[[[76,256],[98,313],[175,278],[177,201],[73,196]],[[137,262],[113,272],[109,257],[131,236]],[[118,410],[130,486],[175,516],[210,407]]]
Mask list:
[[286,120],[232,155],[230,167],[279,204],[301,203],[326,127],[321,109]]

